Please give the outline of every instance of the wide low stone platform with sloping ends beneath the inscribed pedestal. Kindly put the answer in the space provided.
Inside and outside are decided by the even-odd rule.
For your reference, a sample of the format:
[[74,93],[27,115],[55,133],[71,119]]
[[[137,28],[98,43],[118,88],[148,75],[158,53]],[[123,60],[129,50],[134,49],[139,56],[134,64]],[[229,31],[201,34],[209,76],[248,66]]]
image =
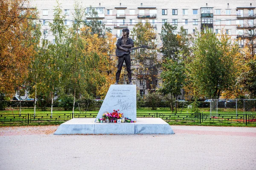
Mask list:
[[74,134],[175,134],[160,118],[137,118],[136,123],[96,123],[95,118],[74,118],[62,123],[55,135]]

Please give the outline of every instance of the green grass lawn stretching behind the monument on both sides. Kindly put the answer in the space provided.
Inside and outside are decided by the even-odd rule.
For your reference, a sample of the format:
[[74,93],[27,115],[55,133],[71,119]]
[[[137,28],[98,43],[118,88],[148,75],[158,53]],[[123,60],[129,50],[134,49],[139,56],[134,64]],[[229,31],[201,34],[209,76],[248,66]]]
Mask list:
[[[96,117],[96,114],[98,113],[99,108],[95,109],[95,111],[87,111],[87,113],[91,113],[92,115],[88,115],[88,114],[82,114],[85,113],[81,111],[81,114],[79,112],[79,110],[75,110],[74,114],[79,114],[80,117],[84,117],[85,115],[87,115],[87,117]],[[65,116],[64,113],[66,114]],[[69,120],[70,117],[72,117],[72,115],[70,115],[72,113],[72,111],[64,111],[63,108],[53,108],[53,118],[54,119],[61,119],[61,121],[63,122],[63,119],[65,120]],[[207,117],[207,121],[204,122],[196,122],[198,121],[199,116],[196,116],[195,113],[192,113],[192,111],[188,108],[178,108],[177,109],[177,114],[173,114],[172,111],[169,108],[157,108],[157,110],[151,110],[151,108],[140,108],[137,109],[137,117],[154,117],[156,116],[155,113],[158,113],[158,117],[162,118],[163,120],[165,120],[166,122],[169,123],[169,125],[205,125],[205,126],[242,126],[242,127],[256,127],[256,122],[251,122],[251,124],[245,124],[245,123],[238,123],[236,120],[239,119],[238,117],[243,116],[243,111],[238,111],[238,115],[236,115],[235,111],[230,112],[230,109],[227,111],[227,109],[225,108],[219,108],[218,109],[218,114],[215,113],[211,113],[209,111],[209,108],[200,108],[200,113],[204,113],[201,114],[201,116],[204,115],[204,117]],[[162,113],[162,114],[161,114]],[[182,113],[182,114],[180,114]],[[248,115],[250,116],[254,116],[254,117],[250,117],[250,119],[255,119],[256,117],[256,113],[252,112],[246,112]],[[29,114],[30,116],[32,116],[34,114],[34,109],[33,108],[22,108],[21,109],[21,115],[25,117],[27,116],[27,114]],[[48,114],[48,115],[47,115]],[[103,114],[103,113],[102,113]],[[230,114],[230,115],[229,115]],[[232,114],[232,115],[231,115]],[[16,119],[18,118],[19,115],[19,110],[17,108],[14,108],[13,110],[4,110],[4,111],[0,111],[0,120],[3,119],[4,116],[6,116],[6,118],[8,117],[8,119],[13,119],[14,116],[16,116]],[[41,109],[36,109],[36,119],[40,118],[40,117],[44,117],[44,119],[49,119],[49,117],[51,116],[51,108],[47,108],[46,111],[41,111]],[[68,116],[68,117],[67,117]],[[76,117],[78,117],[78,115],[74,115]],[[57,118],[56,118],[57,117]],[[59,117],[59,118],[58,118]],[[51,119],[53,119],[51,118]],[[25,118],[24,118],[25,119]],[[31,119],[35,119],[35,117],[30,117],[29,120]],[[36,120],[35,119],[35,120]],[[202,117],[202,121],[203,121],[203,117]],[[229,120],[227,120],[229,119]],[[241,119],[243,119],[241,117]],[[244,118],[245,119],[245,118]],[[247,120],[249,119],[249,117],[247,118]],[[195,120],[195,122],[192,122],[193,120]],[[205,119],[206,120],[206,119]],[[230,121],[232,123],[230,123]],[[35,121],[36,122],[36,121]],[[61,124],[62,122],[57,122],[57,123],[29,123],[29,125],[58,125]],[[222,122],[222,123],[221,123]],[[241,121],[243,122],[243,121]],[[0,126],[6,126],[8,124],[4,123],[1,124]],[[27,124],[14,124],[14,125],[27,125]]]

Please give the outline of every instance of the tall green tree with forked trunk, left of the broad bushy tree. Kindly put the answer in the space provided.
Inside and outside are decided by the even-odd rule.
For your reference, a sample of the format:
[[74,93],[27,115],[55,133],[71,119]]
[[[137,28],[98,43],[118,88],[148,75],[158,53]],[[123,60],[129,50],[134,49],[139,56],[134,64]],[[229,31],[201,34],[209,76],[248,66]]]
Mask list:
[[[190,55],[191,49],[189,46],[190,35],[187,35],[183,27],[177,30],[176,26],[165,23],[160,34],[163,46],[161,52],[163,54],[163,64],[160,91],[168,96],[170,108],[173,111],[173,97],[175,99],[175,111],[177,111],[177,97],[180,95],[180,90],[185,84],[185,63],[187,56]],[[171,95],[169,95],[171,94]]]

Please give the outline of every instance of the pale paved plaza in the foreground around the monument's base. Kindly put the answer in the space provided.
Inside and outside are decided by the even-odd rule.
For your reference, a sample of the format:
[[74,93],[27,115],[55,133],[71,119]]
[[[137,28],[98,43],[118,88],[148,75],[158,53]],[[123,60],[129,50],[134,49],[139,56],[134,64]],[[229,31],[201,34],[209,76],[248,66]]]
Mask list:
[[174,135],[0,127],[0,170],[256,170],[255,127],[171,127]]

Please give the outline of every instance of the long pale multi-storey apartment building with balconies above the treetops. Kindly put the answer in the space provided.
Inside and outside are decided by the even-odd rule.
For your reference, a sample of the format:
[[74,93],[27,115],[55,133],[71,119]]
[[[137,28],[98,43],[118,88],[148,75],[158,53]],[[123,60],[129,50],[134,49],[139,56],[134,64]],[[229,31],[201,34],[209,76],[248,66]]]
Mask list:
[[[74,0],[59,0],[66,15],[64,24],[72,25]],[[123,28],[132,29],[136,23],[150,22],[157,33],[160,33],[162,24],[168,22],[177,27],[183,26],[188,34],[195,30],[211,28],[216,34],[224,30],[232,38],[245,37],[246,33],[255,30],[255,8],[254,0],[78,0],[85,12],[91,6],[98,12],[97,19],[110,28],[113,35],[119,37]],[[53,37],[47,31],[48,21],[51,22],[55,0],[34,0],[32,5],[36,6],[43,34],[48,34],[48,39]],[[84,18],[90,22],[90,18]],[[242,44],[241,44],[242,45]]]

